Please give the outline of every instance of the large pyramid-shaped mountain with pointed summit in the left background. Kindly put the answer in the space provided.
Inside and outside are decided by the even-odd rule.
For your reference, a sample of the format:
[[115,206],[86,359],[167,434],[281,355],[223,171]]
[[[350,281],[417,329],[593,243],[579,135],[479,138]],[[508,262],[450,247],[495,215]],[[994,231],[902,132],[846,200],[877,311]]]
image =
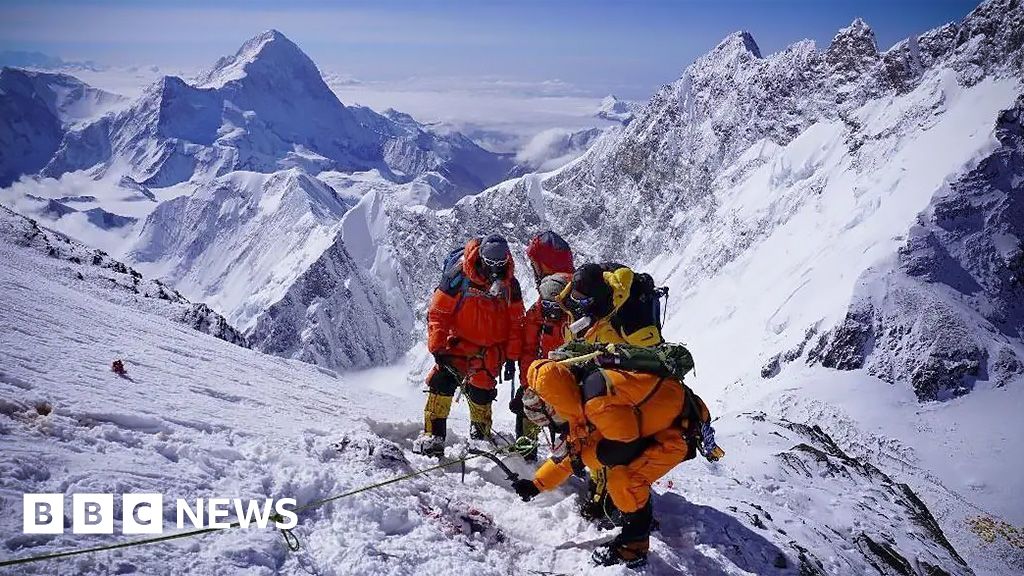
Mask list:
[[461,134],[345,107],[312,60],[272,30],[194,83],[164,77],[123,113],[70,134],[43,173],[121,163],[151,187],[291,167],[310,174],[376,168],[396,180],[435,171],[460,195],[495,183],[511,167]]

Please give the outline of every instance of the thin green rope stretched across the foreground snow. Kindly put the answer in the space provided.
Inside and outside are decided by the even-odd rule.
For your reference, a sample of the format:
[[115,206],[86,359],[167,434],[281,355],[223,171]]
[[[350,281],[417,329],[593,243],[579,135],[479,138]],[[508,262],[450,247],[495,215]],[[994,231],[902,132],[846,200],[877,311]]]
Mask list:
[[[474,452],[472,452],[470,454],[467,454],[467,455],[463,456],[462,458],[454,458],[454,459],[451,459],[451,460],[445,460],[445,461],[443,461],[443,462],[441,462],[439,464],[435,464],[433,466],[429,466],[429,467],[422,468],[422,469],[419,469],[419,470],[414,470],[414,471],[411,471],[411,472],[406,474],[406,475],[396,476],[394,478],[385,480],[383,482],[378,482],[376,484],[369,484],[367,486],[362,486],[362,487],[359,487],[359,488],[355,488],[353,490],[349,490],[348,492],[343,492],[341,494],[337,494],[337,495],[334,495],[334,496],[328,496],[327,498],[321,498],[319,500],[313,500],[311,502],[307,502],[307,503],[305,503],[305,504],[303,504],[301,506],[296,507],[293,510],[293,512],[295,512],[296,515],[298,515],[300,512],[308,511],[308,510],[313,509],[313,508],[318,508],[318,507],[321,507],[321,506],[323,506],[325,504],[329,504],[331,502],[334,502],[335,500],[340,500],[342,498],[347,498],[349,496],[355,496],[356,494],[360,494],[362,492],[369,492],[370,490],[376,490],[377,488],[383,488],[384,486],[388,486],[388,485],[391,485],[391,484],[396,484],[398,482],[410,480],[410,479],[416,478],[418,476],[425,475],[427,472],[431,472],[431,471],[434,471],[434,470],[445,468],[447,466],[451,466],[452,464],[465,464],[466,462],[468,462],[468,461],[470,461],[470,460],[472,460],[474,458],[479,458],[480,456],[487,456],[487,457],[494,456],[494,457],[498,458],[499,456],[507,456],[507,455],[510,455],[510,454],[523,453],[524,451],[528,451],[528,450],[532,449],[532,446],[530,444],[531,442],[532,441],[530,441],[529,439],[520,438],[514,444],[511,444],[511,445],[503,447],[503,448],[499,448],[499,449],[494,450],[492,452],[484,452],[484,451],[478,451],[477,452],[477,451],[474,451]],[[498,460],[496,460],[496,462]],[[270,520],[273,521],[274,523],[276,523],[276,522],[280,522],[282,520],[282,517],[279,513],[274,513],[274,515],[272,515],[270,517]],[[18,566],[18,565],[22,565],[22,564],[30,564],[30,563],[33,563],[33,562],[42,562],[44,560],[56,560],[56,559],[59,559],[59,558],[68,558],[68,557],[73,557],[73,556],[82,556],[82,554],[88,554],[88,553],[92,553],[92,552],[100,552],[100,551],[104,551],[104,550],[115,550],[115,549],[119,549],[119,548],[128,548],[128,547],[133,547],[133,546],[141,546],[141,545],[145,545],[145,544],[156,544],[156,543],[159,543],[159,542],[166,542],[166,541],[169,541],[169,540],[177,540],[177,539],[181,539],[181,538],[189,538],[191,536],[202,536],[203,534],[209,534],[211,532],[220,532],[220,531],[224,531],[224,530],[231,530],[233,528],[239,528],[240,526],[241,526],[241,524],[238,521],[236,521],[236,522],[231,523],[229,526],[227,526],[226,528],[199,528],[199,529],[189,530],[189,531],[186,531],[186,532],[179,532],[177,534],[168,534],[166,536],[157,536],[156,538],[144,538],[142,540],[132,540],[130,542],[118,542],[116,544],[108,544],[105,546],[95,546],[95,547],[92,547],[92,548],[82,548],[82,549],[77,549],[77,550],[66,550],[66,551],[62,551],[62,552],[52,552],[52,553],[48,553],[48,554],[39,554],[39,556],[26,557],[26,558],[19,558],[19,559],[14,559],[14,560],[4,560],[4,561],[0,561],[0,568],[5,568],[5,567],[8,567],[8,566]],[[299,549],[299,547],[300,547],[299,546],[299,539],[292,532],[292,529],[291,528],[279,528],[278,530],[281,531],[281,535],[285,538],[285,544],[288,546],[288,549],[291,550],[291,551],[293,551],[293,552],[297,551]]]

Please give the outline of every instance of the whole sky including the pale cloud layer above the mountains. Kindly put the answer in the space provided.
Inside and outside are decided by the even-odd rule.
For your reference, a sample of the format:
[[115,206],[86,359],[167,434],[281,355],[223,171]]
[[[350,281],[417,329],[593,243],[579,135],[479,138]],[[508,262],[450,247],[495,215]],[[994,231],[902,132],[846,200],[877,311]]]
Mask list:
[[[863,17],[885,49],[962,18],[963,0],[0,0],[0,51],[94,60],[80,79],[134,95],[188,77],[274,28],[319,66],[346,105],[394,108],[499,151],[606,124],[600,98],[646,100],[729,33],[765,54],[820,48]],[[130,68],[129,68],[130,67]],[[157,67],[157,68],[151,68]]]

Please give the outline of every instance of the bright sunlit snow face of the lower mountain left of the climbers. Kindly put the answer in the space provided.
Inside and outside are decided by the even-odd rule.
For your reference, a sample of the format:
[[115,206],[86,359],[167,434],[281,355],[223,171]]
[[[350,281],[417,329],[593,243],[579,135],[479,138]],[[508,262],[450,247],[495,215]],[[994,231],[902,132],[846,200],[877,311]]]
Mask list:
[[248,330],[331,245],[348,207],[298,169],[232,172],[160,204],[128,256]]

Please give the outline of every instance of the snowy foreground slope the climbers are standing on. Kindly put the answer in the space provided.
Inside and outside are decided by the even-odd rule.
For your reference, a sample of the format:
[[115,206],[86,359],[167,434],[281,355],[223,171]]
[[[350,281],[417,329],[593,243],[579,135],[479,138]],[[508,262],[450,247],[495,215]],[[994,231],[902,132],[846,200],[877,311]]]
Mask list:
[[[11,243],[0,249],[10,264],[0,269],[0,323],[8,328],[0,333],[0,459],[11,471],[0,477],[5,508],[26,492],[160,492],[173,523],[173,498],[302,503],[435,463],[410,452],[422,397],[395,385],[401,366],[339,377],[186,329],[142,300],[118,297],[116,287],[83,290],[62,260]],[[127,378],[110,372],[111,358],[125,359]],[[865,378],[840,378],[835,388],[856,390]],[[805,385],[808,397],[823,387]],[[945,534],[914,490],[791,417],[723,414],[727,458],[686,463],[655,486],[660,528],[648,574],[1022,568],[1012,547],[1005,558],[963,560],[963,534]],[[504,411],[499,423],[511,426]],[[465,429],[457,405],[457,442]],[[845,431],[844,441],[870,440]],[[978,456],[989,450],[979,447]],[[521,460],[508,462],[529,474]],[[227,531],[16,573],[631,573],[590,566],[590,549],[610,535],[575,513],[580,483],[523,503],[489,462],[474,460],[464,482],[460,476],[453,466],[302,513],[298,552],[288,552],[272,530]],[[4,559],[125,538],[26,536],[17,515],[0,516],[0,526]]]

